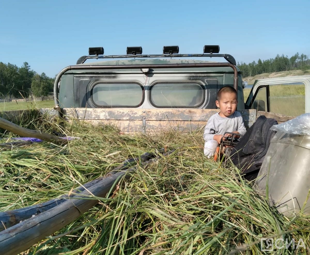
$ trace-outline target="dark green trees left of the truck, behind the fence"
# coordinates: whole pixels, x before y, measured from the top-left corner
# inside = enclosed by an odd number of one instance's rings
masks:
[[[47,96],[53,91],[54,80],[45,73],[36,73],[27,62],[21,67],[0,62],[1,98]]]

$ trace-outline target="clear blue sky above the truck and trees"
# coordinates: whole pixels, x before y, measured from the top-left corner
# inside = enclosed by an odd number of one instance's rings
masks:
[[[310,1],[0,1],[0,61],[54,77],[104,47],[107,55],[142,46],[161,54],[202,53],[219,45],[239,62],[296,52],[310,58]],[[218,61],[218,59],[216,60]]]

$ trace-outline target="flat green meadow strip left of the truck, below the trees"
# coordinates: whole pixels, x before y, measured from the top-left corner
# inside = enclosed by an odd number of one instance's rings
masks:
[[[53,107],[54,100],[49,101],[13,101],[0,103],[0,111],[12,111],[12,110],[28,110],[33,108],[50,108]]]

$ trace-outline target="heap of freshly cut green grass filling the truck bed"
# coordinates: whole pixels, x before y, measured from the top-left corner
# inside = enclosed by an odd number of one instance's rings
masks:
[[[140,165],[113,196],[101,198],[100,204],[23,255],[270,254],[261,251],[260,243],[269,237],[305,240],[305,248],[273,254],[310,253],[310,216],[280,215],[240,179],[238,169],[206,159],[203,130],[151,137],[120,134],[110,126],[61,126],[58,119],[29,123],[28,128],[80,139],[67,146],[42,142],[2,150],[2,212],[68,193],[146,151],[178,149]],[[6,133],[2,141],[11,136]]]

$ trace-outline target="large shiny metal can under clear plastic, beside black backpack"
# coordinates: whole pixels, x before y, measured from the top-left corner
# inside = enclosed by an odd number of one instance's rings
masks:
[[[310,136],[277,132],[254,189],[286,217],[310,214]]]

